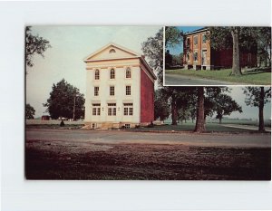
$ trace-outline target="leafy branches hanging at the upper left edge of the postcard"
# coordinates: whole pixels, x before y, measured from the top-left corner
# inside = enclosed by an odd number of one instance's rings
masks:
[[[49,41],[38,34],[31,34],[31,26],[25,27],[25,62],[28,67],[33,67],[33,57],[35,54],[44,57],[47,48],[51,48]]]

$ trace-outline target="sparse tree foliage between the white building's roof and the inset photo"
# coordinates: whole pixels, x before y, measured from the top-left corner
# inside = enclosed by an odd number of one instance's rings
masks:
[[[148,59],[151,68],[157,73],[158,82],[163,84],[163,28],[154,37],[141,43],[141,50]]]

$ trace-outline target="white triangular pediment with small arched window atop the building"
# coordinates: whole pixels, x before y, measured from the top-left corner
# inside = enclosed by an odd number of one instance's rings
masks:
[[[84,61],[113,60],[121,58],[141,57],[141,54],[135,53],[115,43],[109,43],[98,51],[88,55]]]

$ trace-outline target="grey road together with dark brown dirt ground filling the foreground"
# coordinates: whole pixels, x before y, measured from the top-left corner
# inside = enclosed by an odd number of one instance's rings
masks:
[[[28,179],[269,180],[270,171],[270,134],[26,130]]]

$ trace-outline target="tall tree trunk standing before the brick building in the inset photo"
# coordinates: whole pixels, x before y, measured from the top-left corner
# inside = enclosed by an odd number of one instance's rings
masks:
[[[232,35],[232,75],[240,76],[242,75],[240,67],[240,53],[239,53],[239,28],[233,27],[231,29]]]

